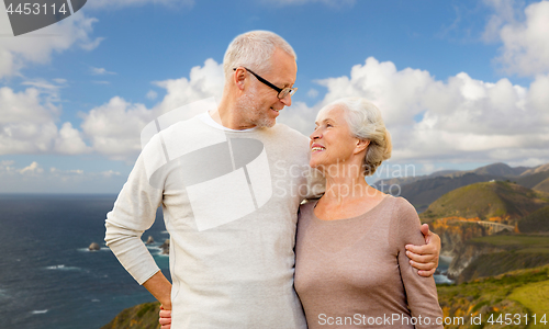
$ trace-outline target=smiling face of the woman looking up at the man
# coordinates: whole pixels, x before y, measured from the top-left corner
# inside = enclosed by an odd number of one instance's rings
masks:
[[[315,124],[316,128],[310,136],[312,168],[326,171],[330,166],[341,164],[356,156],[359,139],[351,136],[344,109],[335,106],[324,111]]]

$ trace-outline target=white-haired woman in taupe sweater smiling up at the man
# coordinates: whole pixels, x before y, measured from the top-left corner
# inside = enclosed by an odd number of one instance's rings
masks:
[[[380,111],[359,98],[323,107],[311,152],[326,192],[301,206],[298,224],[295,291],[309,328],[442,328],[435,281],[404,248],[425,243],[415,208],[365,180],[391,157]]]

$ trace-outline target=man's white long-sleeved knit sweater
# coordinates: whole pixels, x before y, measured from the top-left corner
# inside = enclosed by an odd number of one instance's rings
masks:
[[[148,141],[105,241],[143,284],[159,269],[141,237],[163,207],[171,328],[306,328],[293,290],[296,217],[324,189],[309,154],[309,138],[285,125],[228,132],[200,117]]]

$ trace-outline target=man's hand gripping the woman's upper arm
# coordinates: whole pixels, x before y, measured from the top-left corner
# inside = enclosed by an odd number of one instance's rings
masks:
[[[427,224],[422,225],[422,234],[425,236],[426,245],[406,245],[406,256],[410,258],[410,264],[419,270],[417,274],[430,276],[438,266],[440,237],[432,232]]]

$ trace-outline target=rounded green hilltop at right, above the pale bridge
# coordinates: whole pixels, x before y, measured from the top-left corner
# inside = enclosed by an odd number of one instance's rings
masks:
[[[481,220],[503,216],[519,219],[547,205],[549,195],[546,193],[493,181],[453,190],[430,204],[421,217],[424,223],[451,216],[479,217]]]

